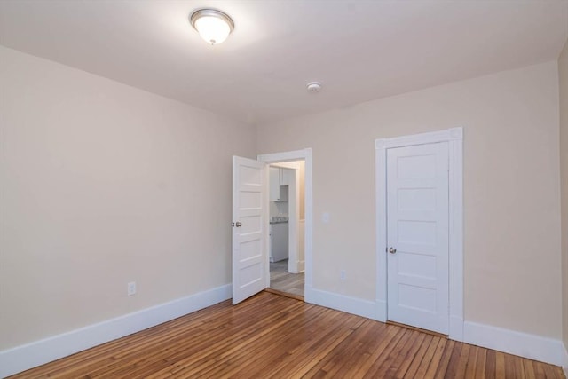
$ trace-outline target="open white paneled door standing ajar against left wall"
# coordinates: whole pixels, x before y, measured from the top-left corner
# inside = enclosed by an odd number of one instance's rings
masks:
[[[268,225],[264,162],[233,156],[233,304],[266,288]]]

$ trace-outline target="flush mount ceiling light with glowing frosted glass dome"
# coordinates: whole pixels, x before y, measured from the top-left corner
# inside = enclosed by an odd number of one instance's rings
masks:
[[[216,9],[199,9],[189,19],[193,28],[207,43],[222,43],[231,34],[234,23],[224,12]]]

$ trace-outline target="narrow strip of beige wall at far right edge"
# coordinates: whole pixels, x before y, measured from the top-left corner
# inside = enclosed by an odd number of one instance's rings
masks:
[[[568,351],[568,42],[558,59],[560,83],[560,178],[562,191],[563,336]],[[568,356],[565,365],[568,367]]]

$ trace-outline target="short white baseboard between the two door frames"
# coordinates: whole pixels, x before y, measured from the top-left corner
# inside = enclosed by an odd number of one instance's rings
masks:
[[[374,301],[339,295],[315,288],[310,288],[309,295],[310,296],[304,297],[306,303],[321,305],[337,311],[378,320],[377,305]]]

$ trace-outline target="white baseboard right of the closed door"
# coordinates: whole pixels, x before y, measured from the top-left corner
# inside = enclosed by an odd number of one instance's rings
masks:
[[[556,366],[564,364],[564,344],[560,340],[543,336],[465,321],[463,342],[540,360]]]

